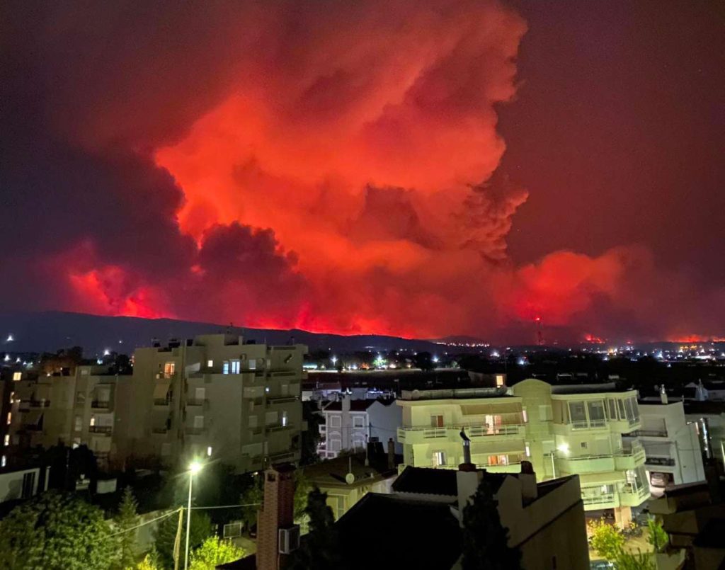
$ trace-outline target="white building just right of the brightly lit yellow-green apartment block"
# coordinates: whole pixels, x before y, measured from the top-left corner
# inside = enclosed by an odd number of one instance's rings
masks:
[[[705,480],[703,453],[697,423],[687,421],[681,401],[639,402],[642,429],[637,431],[645,448],[645,469],[653,494],[668,485]]]

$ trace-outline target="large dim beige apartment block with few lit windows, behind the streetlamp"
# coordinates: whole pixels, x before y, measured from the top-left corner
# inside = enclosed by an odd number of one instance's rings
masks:
[[[136,350],[133,400],[116,420],[118,455],[167,464],[210,457],[239,472],[297,462],[306,352],[228,334]]]

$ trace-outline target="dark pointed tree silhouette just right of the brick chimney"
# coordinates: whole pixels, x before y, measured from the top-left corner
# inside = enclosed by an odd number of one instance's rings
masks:
[[[335,517],[327,505],[327,493],[317,487],[307,497],[305,514],[310,532],[292,555],[293,570],[339,570],[341,563]]]

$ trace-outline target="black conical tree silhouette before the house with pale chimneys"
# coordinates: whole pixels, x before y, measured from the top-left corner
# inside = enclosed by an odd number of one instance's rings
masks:
[[[491,486],[484,480],[463,508],[463,570],[519,570],[521,552],[508,546]]]

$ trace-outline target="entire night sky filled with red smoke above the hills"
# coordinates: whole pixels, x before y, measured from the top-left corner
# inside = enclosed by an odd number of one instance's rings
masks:
[[[725,3],[0,20],[1,311],[725,336]]]

